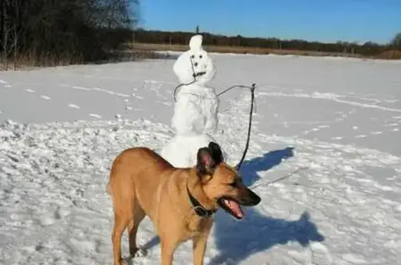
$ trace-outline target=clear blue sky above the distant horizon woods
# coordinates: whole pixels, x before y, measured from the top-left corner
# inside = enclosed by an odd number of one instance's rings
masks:
[[[401,0],[141,0],[140,13],[162,31],[379,43],[401,31]]]

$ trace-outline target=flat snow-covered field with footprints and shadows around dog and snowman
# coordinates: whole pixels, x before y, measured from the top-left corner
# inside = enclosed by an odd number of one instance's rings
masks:
[[[401,63],[210,56],[217,91],[258,86],[242,172],[262,202],[242,221],[217,213],[205,264],[399,264]],[[112,264],[109,167],[127,147],[173,136],[173,63],[0,72],[0,264]],[[221,98],[215,137],[232,163],[249,99]],[[159,264],[148,219],[139,244],[149,254],[132,264]],[[184,243],[175,264],[191,261]]]

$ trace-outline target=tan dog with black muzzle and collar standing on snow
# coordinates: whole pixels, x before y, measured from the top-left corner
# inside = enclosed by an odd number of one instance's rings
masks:
[[[194,264],[202,265],[213,214],[222,208],[237,219],[239,206],[254,206],[258,195],[242,184],[235,168],[223,162],[217,143],[198,150],[193,168],[174,168],[146,147],[123,151],[113,161],[107,192],[113,199],[114,265],[124,264],[121,236],[129,234],[129,253],[136,255],[136,231],[145,216],[160,238],[162,264],[171,265],[180,243],[192,239]]]

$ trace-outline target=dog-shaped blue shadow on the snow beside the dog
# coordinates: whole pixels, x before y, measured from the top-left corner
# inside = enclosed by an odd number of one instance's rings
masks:
[[[208,264],[239,264],[244,259],[290,241],[306,247],[311,241],[324,241],[310,221],[307,211],[298,220],[263,216],[253,208],[244,209],[244,220],[238,222],[219,212],[214,223],[214,242],[219,253]]]

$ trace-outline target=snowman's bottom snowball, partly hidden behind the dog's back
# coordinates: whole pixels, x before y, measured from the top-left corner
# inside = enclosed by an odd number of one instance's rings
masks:
[[[190,168],[196,165],[196,154],[199,148],[207,147],[210,142],[216,141],[208,134],[174,136],[162,148],[160,155],[175,168]]]

